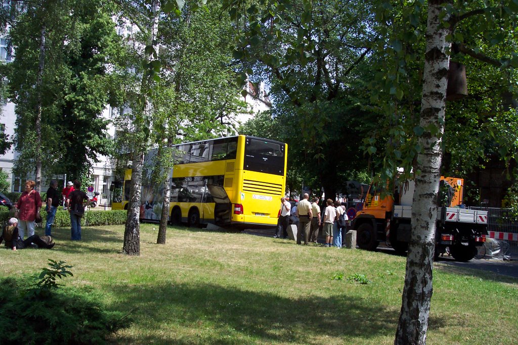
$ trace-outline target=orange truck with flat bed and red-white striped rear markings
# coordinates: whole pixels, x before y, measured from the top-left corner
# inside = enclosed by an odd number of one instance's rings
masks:
[[[435,257],[447,248],[457,261],[469,261],[477,254],[487,235],[487,211],[462,208],[464,179],[441,176],[440,205],[437,214]],[[407,181],[395,189],[394,196],[371,185],[363,209],[352,222],[357,245],[374,250],[380,241],[397,252],[406,252],[410,241],[410,220],[414,182]],[[396,200],[394,200],[396,199]]]

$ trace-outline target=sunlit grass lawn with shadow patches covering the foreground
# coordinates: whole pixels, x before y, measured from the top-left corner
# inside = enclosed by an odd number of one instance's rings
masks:
[[[103,291],[109,309],[134,310],[134,323],[114,343],[394,341],[405,258],[173,227],[167,244],[156,245],[157,229],[142,224],[140,257],[120,253],[123,226],[85,227],[81,242],[69,241],[69,229],[53,229],[52,250],[2,248],[0,276],[66,260],[74,277],[64,283]],[[371,282],[348,280],[353,274]],[[518,279],[435,265],[427,344],[516,344],[517,334]]]

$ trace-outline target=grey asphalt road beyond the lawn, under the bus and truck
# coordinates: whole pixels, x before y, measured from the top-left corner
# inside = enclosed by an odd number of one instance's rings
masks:
[[[275,233],[275,228],[268,229],[246,229],[243,230],[243,233],[256,235],[256,236],[265,236],[272,237]],[[319,238],[319,242],[322,242],[322,238]],[[389,255],[397,255],[396,252],[389,247],[384,246],[384,244],[380,244],[378,247],[378,251],[387,253]],[[497,274],[502,274],[506,276],[511,276],[514,278],[518,278],[518,260],[513,261],[502,261],[502,260],[487,260],[487,259],[472,259],[469,262],[456,262],[452,258],[444,257],[440,258],[439,263],[452,265],[461,268],[470,268],[470,269],[481,269],[482,271],[493,272]]]

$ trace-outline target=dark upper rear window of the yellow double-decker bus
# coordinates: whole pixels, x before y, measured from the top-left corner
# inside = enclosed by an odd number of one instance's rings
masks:
[[[244,146],[244,170],[284,174],[284,144],[247,137]]]

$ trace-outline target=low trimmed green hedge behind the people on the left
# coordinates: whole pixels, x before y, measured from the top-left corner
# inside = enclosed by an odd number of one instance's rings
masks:
[[[42,226],[45,226],[45,221],[47,219],[47,212],[45,209],[41,209],[40,211],[41,219],[43,219]],[[82,220],[83,226],[99,226],[99,225],[120,225],[126,223],[126,214],[127,211],[125,209],[116,210],[116,211],[92,211],[88,210],[84,213],[84,218]],[[9,218],[12,217],[12,213],[9,211],[0,211],[0,224],[3,226],[7,225],[9,222]],[[63,211],[63,209],[57,209],[56,217],[54,218],[54,222],[52,223],[56,228],[69,228],[70,227],[70,215],[68,211]]]

